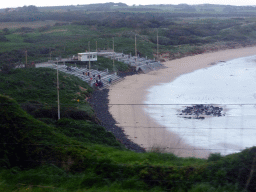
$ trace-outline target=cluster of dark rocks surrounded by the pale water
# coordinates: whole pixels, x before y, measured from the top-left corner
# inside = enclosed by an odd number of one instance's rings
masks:
[[[206,116],[220,117],[222,114],[222,107],[214,107],[213,105],[193,105],[192,107],[186,106],[178,115],[188,119],[204,119]]]

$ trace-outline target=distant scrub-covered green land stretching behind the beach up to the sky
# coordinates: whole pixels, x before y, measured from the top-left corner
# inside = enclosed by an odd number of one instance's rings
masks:
[[[4,26],[0,31],[0,66],[25,63],[26,50],[29,62],[42,62],[88,51],[88,42],[91,51],[96,50],[96,44],[97,50],[112,49],[113,37],[115,51],[134,55],[135,35],[138,54],[152,59],[156,57],[157,31],[159,59],[256,43],[256,10],[250,6],[128,7],[107,3],[46,9],[24,7],[0,13]]]

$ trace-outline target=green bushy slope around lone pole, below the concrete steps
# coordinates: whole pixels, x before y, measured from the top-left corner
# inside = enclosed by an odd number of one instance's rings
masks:
[[[57,119],[56,86],[56,70],[52,69],[16,69],[0,76],[0,92],[17,100],[36,118]],[[86,101],[92,92],[87,83],[60,73],[59,87],[62,117],[97,121]]]

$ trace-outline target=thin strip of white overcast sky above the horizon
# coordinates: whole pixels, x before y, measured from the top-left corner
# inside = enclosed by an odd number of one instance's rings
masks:
[[[35,1],[35,0],[23,0],[23,1],[17,1],[17,0],[1,0],[0,8],[8,8],[8,7],[23,7],[24,5],[35,5],[35,6],[57,6],[57,5],[84,5],[84,4],[93,4],[93,3],[106,3],[106,2],[122,2],[126,3],[127,5],[148,5],[148,4],[154,4],[154,1],[146,1],[146,0],[93,0],[89,3],[89,1],[85,0],[43,0],[43,1]],[[221,5],[256,5],[255,0],[158,0],[155,1],[156,4],[180,4],[180,3],[186,3],[189,5],[192,4],[221,4]]]

